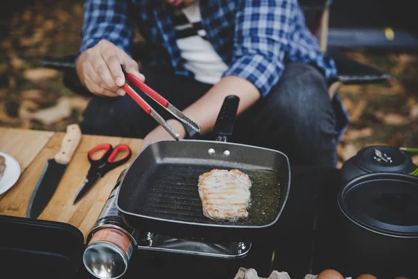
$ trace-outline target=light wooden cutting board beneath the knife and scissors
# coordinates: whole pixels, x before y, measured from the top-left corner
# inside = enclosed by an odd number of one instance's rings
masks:
[[[3,132],[3,129],[0,132]],[[42,142],[42,140],[45,140],[45,137],[49,136],[49,134],[45,134],[47,132],[33,133],[31,130],[17,130],[12,133],[19,137],[21,150],[15,151],[15,149],[8,147],[9,152],[4,152],[9,153],[11,156],[20,156],[21,158],[26,158],[25,153],[29,153],[27,157],[31,156],[31,151],[25,150],[30,149],[33,146],[33,142]],[[0,200],[0,214],[26,217],[27,206],[36,181],[38,181],[47,160],[54,158],[54,155],[59,151],[64,135],[65,133],[52,133],[52,136],[38,152],[29,167],[22,172],[19,181],[3,195],[3,198]],[[8,143],[2,139],[3,137],[0,136],[1,151],[4,150],[3,146],[8,146]],[[95,224],[100,211],[102,211],[119,174],[121,174],[123,169],[127,167],[127,164],[132,162],[139,151],[141,151],[141,142],[142,140],[139,139],[83,135],[58,188],[56,188],[54,196],[49,201],[45,210],[40,214],[39,219],[70,223],[79,228],[86,238],[88,232],[90,232],[90,229]],[[87,160],[87,153],[94,146],[102,143],[109,143],[114,146],[121,143],[127,144],[132,149],[132,158],[128,163],[108,172],[82,200],[73,206],[72,200],[78,188],[82,186],[88,168],[90,167],[90,163]],[[19,160],[20,163],[21,160]]]

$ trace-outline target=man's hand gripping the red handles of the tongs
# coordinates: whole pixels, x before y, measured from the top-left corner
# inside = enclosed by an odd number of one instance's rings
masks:
[[[138,63],[108,40],[100,40],[80,54],[76,61],[77,75],[82,84],[98,96],[123,96],[125,91],[121,86],[125,84],[125,75],[121,64],[128,73],[145,80],[139,73]]]

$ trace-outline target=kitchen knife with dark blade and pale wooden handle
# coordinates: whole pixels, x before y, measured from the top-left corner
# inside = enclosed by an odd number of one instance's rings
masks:
[[[61,181],[61,177],[68,163],[70,163],[72,154],[77,149],[81,138],[82,131],[77,124],[67,126],[67,133],[61,143],[61,150],[59,153],[56,153],[54,159],[47,160],[42,174],[40,174],[38,182],[33,189],[26,217],[36,219],[45,209],[49,199],[54,195],[55,189],[58,187],[59,181]]]

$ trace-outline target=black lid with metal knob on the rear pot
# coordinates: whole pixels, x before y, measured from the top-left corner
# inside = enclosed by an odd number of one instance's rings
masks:
[[[410,172],[410,156],[394,146],[368,146],[357,153],[357,163],[369,172]]]

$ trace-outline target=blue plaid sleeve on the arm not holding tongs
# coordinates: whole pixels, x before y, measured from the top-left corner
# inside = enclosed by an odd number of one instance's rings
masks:
[[[268,95],[284,70],[297,0],[242,0],[235,19],[233,61],[226,75],[248,80]]]

